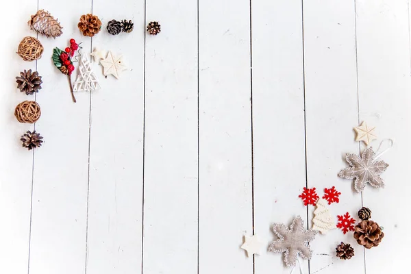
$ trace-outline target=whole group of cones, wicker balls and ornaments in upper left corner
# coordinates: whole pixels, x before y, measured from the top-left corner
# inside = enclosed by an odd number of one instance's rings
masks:
[[[38,10],[36,14],[32,15],[28,21],[30,29],[37,34],[46,36],[47,38],[57,38],[62,35],[62,25],[58,19],[54,18],[49,12],[45,10]],[[101,20],[94,14],[84,14],[80,17],[77,27],[79,31],[86,37],[93,37],[101,31]],[[109,34],[118,35],[120,33],[129,34],[134,29],[134,23],[131,20],[109,21],[106,27]],[[157,21],[151,21],[147,25],[147,32],[151,35],[157,35],[161,32],[161,26]],[[81,44],[81,43],[80,43]],[[74,92],[76,91],[92,91],[101,88],[99,81],[92,71],[90,61],[79,54],[82,49],[74,39],[70,40],[69,47],[64,50],[55,47],[51,59],[55,67],[69,78],[71,97],[73,102],[76,102]],[[27,36],[21,40],[18,45],[18,55],[25,61],[34,61],[41,58],[44,48],[37,38]],[[77,55],[76,55],[77,51]],[[123,55],[116,55],[109,51],[95,50],[91,53],[101,66],[103,66],[103,74],[105,77],[113,75],[117,79],[121,71],[125,71],[127,66],[123,62]],[[74,62],[79,62],[79,74],[75,82],[71,84],[71,74],[75,71]],[[42,77],[37,71],[24,70],[16,77],[17,88],[26,95],[34,95],[41,89]],[[36,123],[40,119],[41,110],[40,105],[36,101],[23,101],[19,103],[15,110],[14,116],[20,123]],[[23,147],[27,149],[35,149],[42,145],[42,136],[36,131],[27,131],[21,136]]]

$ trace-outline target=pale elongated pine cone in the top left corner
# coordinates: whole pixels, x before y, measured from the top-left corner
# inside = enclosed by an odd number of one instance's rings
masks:
[[[47,37],[56,38],[62,35],[62,26],[49,12],[39,10],[32,15],[32,19],[28,22],[30,29],[34,29],[38,34],[43,34]]]

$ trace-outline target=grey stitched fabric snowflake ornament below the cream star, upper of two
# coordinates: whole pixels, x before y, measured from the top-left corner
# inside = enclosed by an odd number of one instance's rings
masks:
[[[375,188],[384,188],[384,180],[379,177],[379,173],[383,173],[388,164],[384,161],[375,162],[374,158],[373,147],[364,149],[361,157],[353,153],[347,153],[345,160],[351,167],[343,169],[338,175],[346,179],[356,178],[354,188],[357,192],[364,190],[366,183]]]

